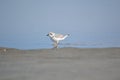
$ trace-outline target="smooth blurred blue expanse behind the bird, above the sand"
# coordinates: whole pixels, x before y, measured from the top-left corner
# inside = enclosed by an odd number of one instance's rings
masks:
[[[120,0],[0,0],[0,47],[51,48],[46,36],[51,31],[70,34],[63,44],[120,47],[119,4]]]

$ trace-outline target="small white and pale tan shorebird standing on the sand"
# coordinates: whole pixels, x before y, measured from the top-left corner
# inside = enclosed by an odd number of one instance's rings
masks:
[[[67,35],[62,35],[62,34],[56,34],[54,32],[49,32],[47,34],[47,36],[50,37],[50,39],[54,42],[54,48],[58,48],[58,44],[59,41],[64,40],[65,38],[67,38],[69,36],[69,34]]]

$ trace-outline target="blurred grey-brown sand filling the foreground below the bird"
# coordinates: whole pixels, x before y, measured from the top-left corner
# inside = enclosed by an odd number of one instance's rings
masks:
[[[120,80],[120,48],[1,48],[0,80]]]

